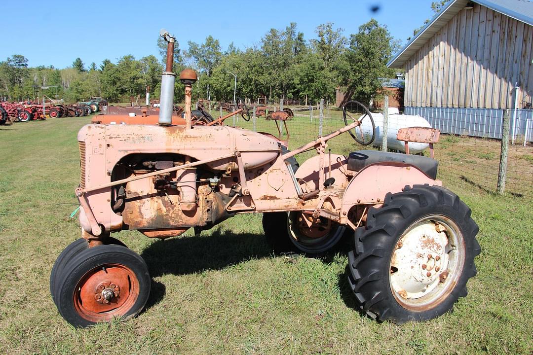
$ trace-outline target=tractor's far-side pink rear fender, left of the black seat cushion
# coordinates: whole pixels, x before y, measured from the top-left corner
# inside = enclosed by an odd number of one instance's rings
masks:
[[[348,170],[348,158],[344,155],[331,154],[331,174],[329,174],[329,154],[324,154],[324,170],[326,178],[332,177],[335,179],[333,184],[336,188],[346,188],[348,186],[349,178],[344,174]],[[304,181],[302,188],[307,192],[319,189],[320,178],[320,155],[315,155],[312,158],[304,161],[303,164],[296,171],[296,178]]]

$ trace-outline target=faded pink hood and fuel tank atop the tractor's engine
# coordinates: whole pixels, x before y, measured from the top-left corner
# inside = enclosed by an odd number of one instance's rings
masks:
[[[78,133],[87,155],[102,154],[107,170],[128,154],[177,153],[196,160],[213,159],[241,153],[245,169],[260,167],[279,154],[276,139],[253,131],[227,126],[162,127],[157,125],[86,125]],[[207,165],[226,170],[233,159],[221,159]]]

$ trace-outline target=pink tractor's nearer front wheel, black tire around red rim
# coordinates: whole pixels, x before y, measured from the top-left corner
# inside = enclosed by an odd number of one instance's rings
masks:
[[[79,251],[64,267],[56,289],[61,316],[75,327],[139,314],[150,294],[144,260],[122,245]]]

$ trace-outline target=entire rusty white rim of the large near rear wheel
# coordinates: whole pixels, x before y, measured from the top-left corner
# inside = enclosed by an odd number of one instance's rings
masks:
[[[399,238],[390,263],[390,286],[402,307],[427,310],[444,301],[464,266],[464,241],[445,216],[415,222]]]

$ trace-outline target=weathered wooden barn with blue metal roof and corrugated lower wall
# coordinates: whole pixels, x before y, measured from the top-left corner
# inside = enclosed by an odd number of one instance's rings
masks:
[[[451,0],[387,64],[403,68],[405,112],[443,133],[533,141],[533,2]]]

